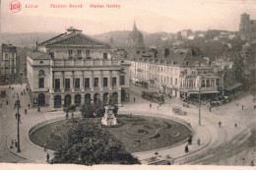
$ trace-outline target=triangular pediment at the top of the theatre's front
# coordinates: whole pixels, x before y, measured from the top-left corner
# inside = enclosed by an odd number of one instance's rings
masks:
[[[107,44],[83,33],[75,33],[70,36],[66,36],[51,43],[51,45],[108,46]]]

